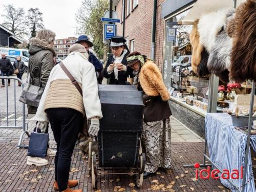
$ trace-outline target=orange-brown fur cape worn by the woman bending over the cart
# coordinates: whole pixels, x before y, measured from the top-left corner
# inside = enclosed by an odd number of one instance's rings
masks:
[[[164,85],[162,74],[153,61],[147,60],[141,67],[139,81],[147,96],[160,95],[163,101],[170,98],[169,92]]]

